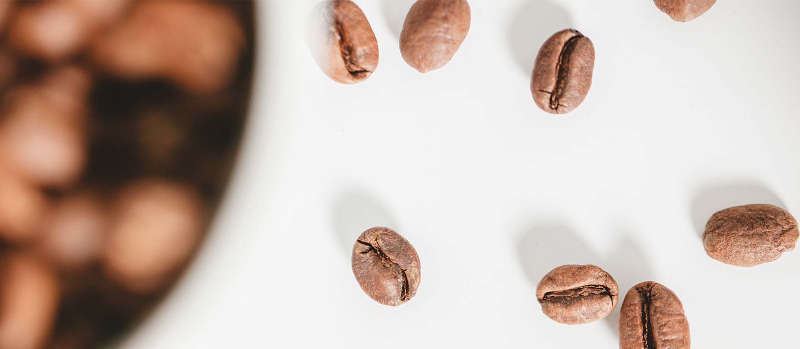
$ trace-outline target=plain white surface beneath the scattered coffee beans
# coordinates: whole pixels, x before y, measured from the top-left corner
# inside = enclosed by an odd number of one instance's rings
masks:
[[[226,204],[123,347],[617,347],[619,306],[575,327],[542,315],[536,284],[560,264],[597,264],[622,294],[665,284],[695,348],[797,347],[800,251],[735,268],[699,234],[734,204],[800,215],[800,2],[720,0],[678,23],[650,0],[473,0],[461,50],[425,75],[398,50],[412,2],[358,2],[381,50],[359,85],[314,65],[302,23],[315,1],[259,3],[256,97]],[[594,42],[594,84],[551,116],[530,69],[566,27]],[[374,225],[422,260],[401,307],[374,303],[350,271]]]

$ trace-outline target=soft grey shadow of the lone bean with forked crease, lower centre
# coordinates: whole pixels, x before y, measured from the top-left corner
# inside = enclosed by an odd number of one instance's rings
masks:
[[[362,191],[352,190],[339,194],[330,214],[336,240],[347,256],[350,256],[358,235],[366,229],[397,227],[390,212],[373,196]]]

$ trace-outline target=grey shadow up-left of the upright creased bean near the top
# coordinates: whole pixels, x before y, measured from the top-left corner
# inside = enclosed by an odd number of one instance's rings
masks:
[[[550,35],[558,30],[571,28],[570,14],[548,0],[533,0],[522,4],[508,27],[508,45],[522,73],[530,75],[534,61]]]

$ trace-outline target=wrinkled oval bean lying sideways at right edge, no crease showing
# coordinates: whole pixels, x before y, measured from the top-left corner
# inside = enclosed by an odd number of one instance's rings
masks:
[[[714,213],[702,234],[706,253],[714,260],[752,267],[778,260],[797,243],[798,221],[783,208],[748,204]]]

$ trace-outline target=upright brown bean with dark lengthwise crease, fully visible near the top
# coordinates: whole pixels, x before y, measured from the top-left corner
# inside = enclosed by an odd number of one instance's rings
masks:
[[[539,49],[530,80],[536,105],[547,113],[578,108],[592,87],[594,45],[574,29],[553,34]]]

